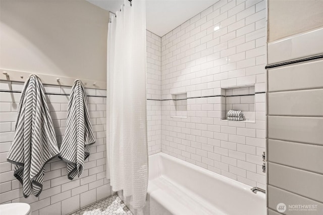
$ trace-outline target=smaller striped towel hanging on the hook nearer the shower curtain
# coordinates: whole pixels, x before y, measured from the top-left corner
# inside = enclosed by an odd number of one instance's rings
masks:
[[[82,82],[76,80],[69,99],[66,131],[60,150],[60,158],[67,163],[70,180],[76,174],[79,177],[82,174],[84,160],[90,155],[89,145],[94,142],[86,92]]]

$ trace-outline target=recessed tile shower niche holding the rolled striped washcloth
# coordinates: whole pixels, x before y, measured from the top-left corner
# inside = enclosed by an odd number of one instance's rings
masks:
[[[241,110],[243,121],[255,122],[254,85],[222,89],[222,120],[227,120],[229,110]]]

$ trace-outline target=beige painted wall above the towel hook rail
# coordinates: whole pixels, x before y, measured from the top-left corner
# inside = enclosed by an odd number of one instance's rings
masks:
[[[106,80],[109,12],[79,1],[0,1],[0,67]]]

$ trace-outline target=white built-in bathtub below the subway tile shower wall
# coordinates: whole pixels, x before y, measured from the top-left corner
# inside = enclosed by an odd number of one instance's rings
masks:
[[[265,195],[164,153],[149,156],[144,214],[265,215]]]

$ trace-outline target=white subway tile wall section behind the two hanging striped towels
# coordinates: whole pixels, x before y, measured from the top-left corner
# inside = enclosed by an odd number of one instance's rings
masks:
[[[83,174],[71,181],[67,178],[66,163],[53,159],[45,165],[43,190],[39,197],[23,197],[20,182],[13,175],[14,165],[7,162],[22,86],[23,83],[0,81],[0,203],[27,202],[33,215],[68,214],[109,196],[110,181],[105,178],[106,91],[87,89],[96,142],[90,147]],[[70,87],[45,85],[45,92],[60,146],[66,127]]]

